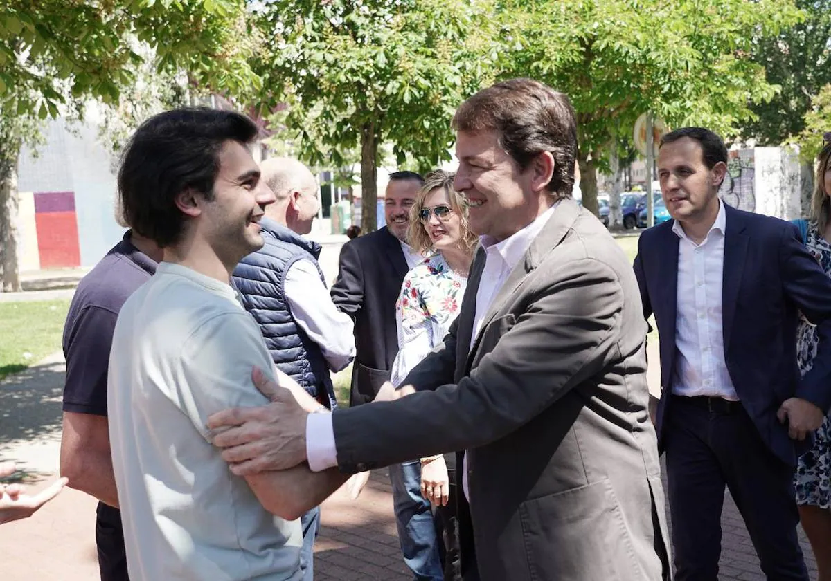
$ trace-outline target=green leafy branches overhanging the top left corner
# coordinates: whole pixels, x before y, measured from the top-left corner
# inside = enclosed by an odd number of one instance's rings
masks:
[[[228,95],[259,88],[248,66],[243,0],[27,2],[0,6],[0,265],[19,290],[14,228],[17,159],[37,143],[38,119],[81,110],[90,98],[117,105],[148,59],[184,71],[197,87]],[[140,55],[142,48],[149,57]]]

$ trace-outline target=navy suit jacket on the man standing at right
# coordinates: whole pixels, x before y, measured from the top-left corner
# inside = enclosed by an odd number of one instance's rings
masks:
[[[722,291],[725,360],[742,405],[774,454],[793,465],[805,443],[788,437],[776,412],[788,398],[831,406],[831,279],[809,254],[798,229],[779,218],[725,204]],[[673,220],[643,232],[635,273],[643,314],[655,313],[661,347],[661,388],[670,392],[676,361],[678,242]],[[814,368],[799,379],[798,310],[819,330]],[[663,444],[671,398],[661,397],[656,425]]]

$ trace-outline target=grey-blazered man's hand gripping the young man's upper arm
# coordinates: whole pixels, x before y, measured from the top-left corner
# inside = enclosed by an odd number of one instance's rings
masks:
[[[280,388],[261,369],[254,368],[252,378],[262,393],[271,394],[272,403],[226,409],[208,418],[214,446],[225,448],[223,460],[237,476],[287,470],[306,461],[308,413],[291,391]]]

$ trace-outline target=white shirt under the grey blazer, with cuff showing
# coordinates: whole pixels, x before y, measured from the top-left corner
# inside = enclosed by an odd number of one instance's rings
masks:
[[[504,285],[510,271],[519,264],[525,252],[534,242],[539,232],[548,222],[548,218],[554,212],[557,204],[549,207],[540,214],[534,222],[524,227],[513,236],[505,238],[502,242],[496,242],[494,238],[479,237],[479,242],[485,249],[484,270],[479,281],[479,289],[476,291],[476,312],[474,315],[474,331],[472,339],[479,333],[479,326],[482,325],[485,313],[488,312],[499,289]],[[405,252],[406,254],[406,252]],[[471,348],[475,340],[471,340]],[[309,468],[318,472],[337,466],[337,447],[335,446],[335,431],[332,427],[331,413],[310,413],[306,420],[306,456]],[[462,488],[465,496],[468,496],[467,485],[467,454],[462,464]]]

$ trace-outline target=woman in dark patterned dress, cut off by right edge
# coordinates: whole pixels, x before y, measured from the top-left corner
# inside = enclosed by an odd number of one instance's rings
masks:
[[[811,199],[809,220],[795,221],[805,246],[831,276],[831,132],[825,134]],[[819,337],[807,320],[796,334],[797,364],[804,374],[813,365]],[[799,458],[794,477],[799,520],[817,559],[819,581],[831,581],[831,416],[814,432],[814,446]]]

